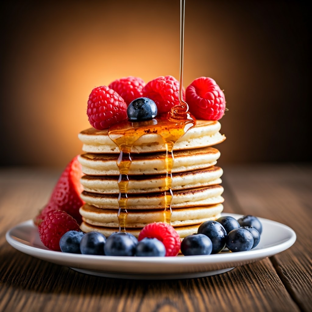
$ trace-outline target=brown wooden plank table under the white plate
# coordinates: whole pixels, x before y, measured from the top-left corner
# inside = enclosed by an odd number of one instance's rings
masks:
[[[223,167],[224,212],[293,228],[293,246],[222,275],[120,280],[85,275],[23,254],[5,233],[31,219],[60,171],[0,171],[0,311],[311,311],[312,166]]]

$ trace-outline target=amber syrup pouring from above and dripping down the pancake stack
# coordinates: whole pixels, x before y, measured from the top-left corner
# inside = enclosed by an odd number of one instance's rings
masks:
[[[183,100],[183,41],[184,41],[184,9],[185,0],[181,0],[181,32],[180,32],[180,88],[179,88],[179,105],[171,108],[168,115],[160,115],[156,119],[150,119],[139,122],[125,120],[111,126],[108,135],[120,149],[117,160],[119,168],[119,210],[118,221],[119,231],[126,231],[127,225],[127,188],[129,182],[129,168],[131,165],[131,149],[135,142],[146,133],[155,133],[163,138],[166,147],[166,190],[164,192],[164,222],[170,224],[172,209],[171,200],[173,192],[171,190],[172,168],[173,168],[173,146],[174,143],[182,137],[188,129],[196,124],[195,118],[188,112],[188,104]]]

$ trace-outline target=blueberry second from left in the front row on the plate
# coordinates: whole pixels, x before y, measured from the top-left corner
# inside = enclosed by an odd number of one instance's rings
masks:
[[[84,255],[104,255],[106,237],[100,232],[88,232],[80,241],[80,251]]]

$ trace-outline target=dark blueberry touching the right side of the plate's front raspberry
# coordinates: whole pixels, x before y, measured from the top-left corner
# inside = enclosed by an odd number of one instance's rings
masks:
[[[192,234],[183,238],[181,252],[184,256],[210,255],[211,239],[204,234]]]

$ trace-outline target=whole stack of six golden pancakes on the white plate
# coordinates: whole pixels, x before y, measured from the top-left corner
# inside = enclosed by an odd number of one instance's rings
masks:
[[[218,121],[197,120],[173,147],[171,225],[180,237],[197,232],[199,225],[216,220],[223,210],[222,168],[217,167],[220,152],[212,147],[225,140]],[[79,156],[84,191],[80,208],[84,232],[109,236],[119,231],[118,196],[119,148],[108,130],[90,128],[78,135],[85,154]],[[164,221],[166,190],[166,148],[155,133],[144,134],[131,150],[126,231],[139,236],[148,223]]]

